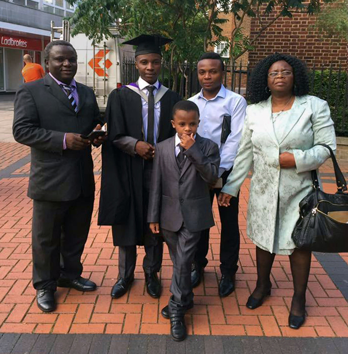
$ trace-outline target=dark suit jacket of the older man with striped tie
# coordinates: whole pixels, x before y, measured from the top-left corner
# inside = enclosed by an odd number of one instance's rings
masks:
[[[24,84],[17,91],[13,135],[31,147],[28,196],[69,201],[94,193],[91,148],[63,150],[65,133],[87,135],[100,123],[93,90],[77,83],[78,111],[49,76]]]

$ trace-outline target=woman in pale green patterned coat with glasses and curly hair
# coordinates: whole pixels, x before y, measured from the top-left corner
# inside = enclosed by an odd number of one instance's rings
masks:
[[[319,143],[336,149],[326,101],[308,95],[306,67],[296,57],[274,53],[254,69],[247,114],[233,171],[218,198],[229,205],[252,164],[247,234],[256,245],[257,284],[247,307],[256,309],[270,294],[270,271],[276,254],[288,255],[294,296],[288,323],[305,321],[311,252],[296,249],[291,238],[299,203],[312,190],[311,171],[329,157]]]

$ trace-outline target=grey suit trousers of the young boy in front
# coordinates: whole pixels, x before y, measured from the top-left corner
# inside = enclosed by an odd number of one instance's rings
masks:
[[[168,245],[170,259],[173,262],[169,300],[169,313],[185,314],[193,302],[191,287],[191,264],[193,262],[201,231],[190,232],[183,224],[179,231],[162,229],[163,238]]]

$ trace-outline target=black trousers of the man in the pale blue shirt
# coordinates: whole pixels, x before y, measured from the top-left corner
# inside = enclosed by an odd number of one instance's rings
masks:
[[[227,177],[232,168],[222,173],[222,185],[225,185]],[[211,204],[214,196],[218,196],[220,188],[210,191]],[[220,241],[220,270],[221,274],[233,275],[238,269],[238,257],[240,248],[240,232],[238,225],[239,194],[237,198],[231,198],[228,207],[218,207],[221,221],[221,241]],[[209,250],[209,229],[202,231],[201,239],[197,245],[195,254],[195,264],[198,268],[204,268],[208,264],[207,254]]]

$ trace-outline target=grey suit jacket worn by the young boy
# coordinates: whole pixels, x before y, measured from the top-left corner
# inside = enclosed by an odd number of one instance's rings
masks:
[[[196,143],[184,154],[180,171],[175,136],[156,145],[147,221],[174,232],[184,222],[189,231],[197,232],[214,225],[209,185],[217,181],[219,148],[197,134]]]

